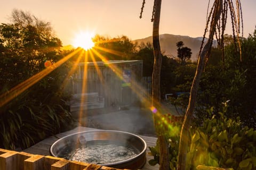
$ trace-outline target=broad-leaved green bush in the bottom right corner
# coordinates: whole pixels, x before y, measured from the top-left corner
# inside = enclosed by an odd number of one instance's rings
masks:
[[[234,169],[256,168],[256,130],[244,126],[239,117],[227,118],[224,113],[212,114],[201,127],[191,133],[188,165],[232,167]]]

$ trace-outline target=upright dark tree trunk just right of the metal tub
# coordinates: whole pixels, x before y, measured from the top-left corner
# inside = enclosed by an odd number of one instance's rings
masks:
[[[160,92],[160,78],[161,78],[161,66],[162,66],[162,54],[159,43],[159,21],[160,21],[160,13],[161,13],[161,2],[162,0],[155,0],[154,2],[154,21],[153,21],[153,47],[154,47],[154,69],[152,75],[152,105],[159,109],[161,105],[161,92]],[[169,149],[168,142],[164,136],[161,129],[157,126],[157,122],[159,120],[159,116],[154,114],[154,126],[157,133],[158,143],[159,143],[159,169],[168,170],[169,169]],[[163,130],[163,129],[162,129]]]

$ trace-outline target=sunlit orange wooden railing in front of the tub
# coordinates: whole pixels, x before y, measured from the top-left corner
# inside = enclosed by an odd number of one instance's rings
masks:
[[[0,148],[0,170],[120,170],[101,165]]]

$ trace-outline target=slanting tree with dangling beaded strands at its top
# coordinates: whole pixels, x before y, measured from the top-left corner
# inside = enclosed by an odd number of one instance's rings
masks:
[[[231,13],[233,34],[235,35],[235,30],[236,30],[237,37],[239,37],[238,26],[239,26],[239,19],[240,19],[239,14],[241,12],[241,2],[239,0],[236,0],[236,6],[237,6],[236,9],[237,9],[238,18],[236,18],[233,1],[231,1],[231,0],[215,0],[213,3],[213,7],[211,8],[209,18],[207,19],[205,33],[207,30],[208,23],[211,20],[209,39],[207,40],[202,51],[199,53],[198,62],[197,62],[197,71],[196,71],[196,74],[195,74],[195,77],[193,80],[193,84],[191,86],[189,104],[188,104],[188,108],[186,111],[185,119],[182,124],[180,146],[179,146],[179,156],[178,156],[178,169],[179,170],[186,169],[186,155],[187,155],[187,150],[188,150],[188,136],[189,136],[188,132],[189,132],[190,124],[191,124],[191,119],[193,118],[193,111],[194,111],[195,104],[196,104],[196,95],[197,95],[197,90],[199,87],[199,81],[201,79],[201,75],[204,70],[206,58],[209,57],[210,52],[211,52],[212,41],[213,41],[214,35],[215,34],[218,35],[218,33],[217,33],[218,31],[220,32],[219,33],[220,37],[217,37],[217,38],[219,38],[219,40],[220,40],[219,41],[221,44],[220,47],[223,48],[223,37],[224,37],[225,28],[226,28],[228,7],[229,7],[230,13]],[[205,34],[204,34],[204,37],[205,37]],[[204,41],[204,39],[203,39],[203,41]],[[202,44],[203,44],[203,41],[202,41]],[[238,45],[239,45],[239,39],[238,39]]]

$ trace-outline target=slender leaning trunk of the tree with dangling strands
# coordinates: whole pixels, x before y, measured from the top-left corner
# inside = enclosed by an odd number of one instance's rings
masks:
[[[191,125],[191,119],[193,117],[193,111],[195,108],[196,103],[196,96],[197,96],[197,90],[199,87],[199,81],[201,79],[201,75],[204,70],[205,65],[205,58],[206,56],[209,56],[212,48],[212,41],[215,33],[215,27],[218,23],[218,20],[220,19],[221,11],[222,11],[222,0],[215,0],[215,2],[218,3],[218,7],[215,8],[212,21],[211,21],[211,27],[209,32],[209,39],[207,40],[202,53],[199,55],[198,63],[197,63],[197,70],[196,74],[190,89],[190,97],[189,97],[189,104],[187,108],[187,112],[185,115],[185,119],[182,124],[181,128],[181,137],[180,137],[180,146],[179,146],[179,156],[178,156],[178,170],[185,170],[186,169],[186,156],[188,151],[188,137],[189,137],[189,127]]]

